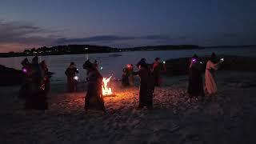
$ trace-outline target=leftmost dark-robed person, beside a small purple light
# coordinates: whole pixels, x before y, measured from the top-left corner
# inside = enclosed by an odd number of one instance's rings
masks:
[[[30,62],[27,58],[25,58],[22,62],[22,86],[19,90],[18,98],[26,98],[29,94],[29,84],[31,82],[30,74],[31,74],[31,66]]]

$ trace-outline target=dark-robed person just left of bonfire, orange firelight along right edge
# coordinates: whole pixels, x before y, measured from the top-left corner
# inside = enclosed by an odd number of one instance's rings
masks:
[[[102,96],[102,74],[96,69],[90,60],[83,64],[83,68],[87,70],[87,93],[85,98],[85,110],[102,110],[105,112],[105,106]]]

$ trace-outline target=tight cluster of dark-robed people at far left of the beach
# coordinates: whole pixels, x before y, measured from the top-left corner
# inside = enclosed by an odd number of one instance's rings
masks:
[[[25,109],[48,109],[47,97],[50,90],[50,77],[46,62],[38,62],[34,57],[31,62],[27,58],[22,61],[23,81],[19,90],[19,98],[25,98]]]

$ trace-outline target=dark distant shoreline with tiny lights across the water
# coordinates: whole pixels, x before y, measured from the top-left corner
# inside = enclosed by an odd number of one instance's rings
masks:
[[[86,48],[85,48],[86,47]],[[103,54],[103,53],[120,53],[130,51],[159,51],[159,50],[200,50],[204,49],[200,46],[194,45],[180,45],[180,46],[142,46],[134,48],[111,48],[106,46],[54,46],[51,48],[41,48],[37,50],[30,50],[29,52],[10,52],[0,53],[0,58],[11,58],[11,57],[29,57],[29,56],[46,56],[46,55],[69,55],[69,54]],[[28,50],[27,50],[28,51]]]

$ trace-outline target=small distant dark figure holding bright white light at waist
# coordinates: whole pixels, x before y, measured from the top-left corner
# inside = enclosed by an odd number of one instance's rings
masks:
[[[70,66],[65,71],[66,78],[67,78],[67,87],[70,93],[77,90],[78,85],[78,69],[75,67],[74,62],[70,62]]]

